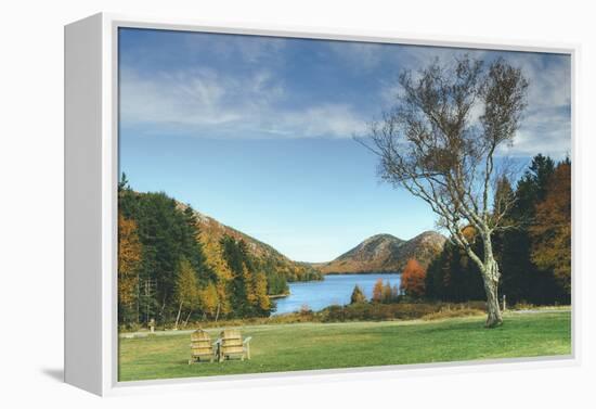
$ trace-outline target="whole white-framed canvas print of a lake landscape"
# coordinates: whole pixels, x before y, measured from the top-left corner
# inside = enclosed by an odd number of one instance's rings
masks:
[[[573,362],[575,53],[66,26],[66,382]]]

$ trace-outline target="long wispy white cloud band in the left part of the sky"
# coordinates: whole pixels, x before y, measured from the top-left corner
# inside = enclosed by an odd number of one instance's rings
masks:
[[[125,126],[186,126],[199,137],[349,138],[364,130],[364,119],[349,104],[283,107],[289,100],[283,81],[267,71],[232,77],[193,69],[145,78],[125,69],[120,119]]]

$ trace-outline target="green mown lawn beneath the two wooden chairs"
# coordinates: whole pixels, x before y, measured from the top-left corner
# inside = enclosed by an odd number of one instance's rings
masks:
[[[252,325],[251,360],[189,366],[190,335],[121,338],[119,380],[280,372],[380,365],[571,354],[570,311],[507,314],[485,330],[482,317]],[[208,330],[217,338],[219,330]]]

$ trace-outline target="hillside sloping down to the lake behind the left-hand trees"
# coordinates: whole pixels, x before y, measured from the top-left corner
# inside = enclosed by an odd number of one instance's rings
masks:
[[[180,209],[184,210],[187,206],[178,203]],[[213,267],[221,263],[220,240],[224,235],[230,235],[236,240],[243,240],[251,255],[260,259],[271,270],[284,276],[287,281],[307,281],[321,280],[321,272],[307,263],[294,261],[277,252],[271,245],[263,243],[242,231],[225,226],[212,217],[206,216],[194,210],[198,228],[199,240],[203,243],[207,261]]]

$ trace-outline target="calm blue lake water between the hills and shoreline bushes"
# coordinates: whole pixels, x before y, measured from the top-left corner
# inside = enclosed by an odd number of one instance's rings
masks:
[[[276,299],[277,309],[274,315],[294,312],[300,310],[302,305],[308,305],[313,311],[319,311],[329,305],[345,305],[350,303],[350,296],[354,285],[359,284],[366,298],[373,295],[375,281],[383,279],[389,281],[391,286],[400,286],[400,274],[337,274],[327,276],[323,281],[288,283],[289,296]]]

